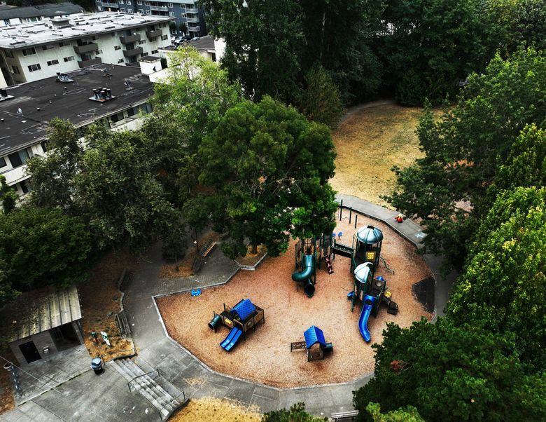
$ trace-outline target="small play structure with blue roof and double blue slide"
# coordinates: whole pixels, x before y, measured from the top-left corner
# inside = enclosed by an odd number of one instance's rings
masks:
[[[250,299],[241,299],[233,308],[225,306],[222,313],[214,312],[209,322],[209,328],[216,332],[221,325],[230,328],[228,336],[220,343],[221,348],[229,352],[235,347],[241,337],[246,340],[246,333],[256,325],[265,324],[265,314],[260,306],[255,306]]]

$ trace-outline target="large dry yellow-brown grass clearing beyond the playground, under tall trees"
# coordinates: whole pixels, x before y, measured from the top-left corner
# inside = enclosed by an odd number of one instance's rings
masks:
[[[423,156],[415,134],[422,109],[386,104],[362,109],[332,132],[337,158],[333,188],[388,207],[380,195],[393,189],[393,165]]]

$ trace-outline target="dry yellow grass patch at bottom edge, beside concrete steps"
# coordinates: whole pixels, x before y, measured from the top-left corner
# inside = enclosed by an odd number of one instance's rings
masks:
[[[204,397],[190,400],[186,407],[169,418],[169,422],[258,422],[258,409],[231,400]]]

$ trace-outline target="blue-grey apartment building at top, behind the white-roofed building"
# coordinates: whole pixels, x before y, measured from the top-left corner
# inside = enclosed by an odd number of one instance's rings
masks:
[[[174,18],[176,34],[183,32],[194,38],[207,35],[202,8],[195,0],[95,0],[98,11],[120,11],[122,13],[139,13],[148,16]],[[181,26],[182,25],[182,26]],[[184,26],[185,25],[185,26]],[[186,27],[186,29],[184,29]],[[181,31],[181,28],[184,29]]]

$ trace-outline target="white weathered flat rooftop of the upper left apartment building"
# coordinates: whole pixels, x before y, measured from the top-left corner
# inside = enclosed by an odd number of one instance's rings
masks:
[[[99,12],[70,15],[39,22],[0,27],[0,48],[18,50],[31,46],[109,34],[146,25],[169,22],[174,18],[132,13]]]

